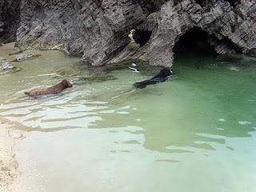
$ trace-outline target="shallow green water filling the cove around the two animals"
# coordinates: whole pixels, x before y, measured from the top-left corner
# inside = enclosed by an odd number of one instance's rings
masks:
[[[172,81],[134,90],[149,76],[123,69],[79,82],[88,71],[70,69],[78,58],[45,53],[0,76],[1,123],[27,131],[14,149],[16,191],[256,191],[251,58],[187,55]],[[58,96],[22,94],[69,77],[74,87]]]

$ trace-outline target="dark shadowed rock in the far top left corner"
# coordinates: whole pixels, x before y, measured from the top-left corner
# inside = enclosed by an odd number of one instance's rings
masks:
[[[2,42],[12,42],[16,39],[20,17],[19,3],[20,0],[0,0],[0,39]]]

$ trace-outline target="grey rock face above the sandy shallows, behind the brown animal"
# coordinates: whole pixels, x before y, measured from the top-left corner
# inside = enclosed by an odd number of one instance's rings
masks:
[[[22,0],[18,46],[82,53],[79,7],[71,1]]]

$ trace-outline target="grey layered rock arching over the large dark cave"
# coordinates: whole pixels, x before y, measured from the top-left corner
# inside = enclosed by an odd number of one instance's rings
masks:
[[[154,36],[147,47],[136,54],[126,51],[114,62],[132,57],[148,60],[151,65],[171,66],[175,43],[195,26],[209,34],[208,41],[218,54],[242,52],[252,55],[256,47],[255,10],[254,0],[241,1],[235,8],[224,1],[212,1],[204,7],[192,0],[183,0],[176,5],[167,2],[148,17]]]

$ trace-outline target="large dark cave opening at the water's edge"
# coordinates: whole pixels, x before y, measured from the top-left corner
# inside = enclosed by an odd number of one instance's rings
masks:
[[[215,55],[214,46],[208,42],[210,35],[198,27],[187,30],[185,34],[175,43],[174,58],[184,54],[210,54]]]

